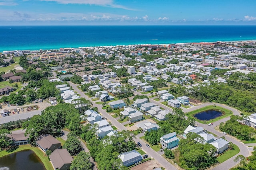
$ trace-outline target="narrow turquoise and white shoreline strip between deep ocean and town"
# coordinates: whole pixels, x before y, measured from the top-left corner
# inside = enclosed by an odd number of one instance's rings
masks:
[[[217,40],[220,41],[220,40]],[[67,45],[66,47],[54,47],[56,45],[52,45],[52,46],[41,46],[42,48],[37,48],[37,47],[32,47],[32,48],[27,48],[27,47],[21,47],[21,48],[16,48],[15,47],[13,49],[4,49],[4,50],[0,50],[2,53],[4,51],[15,51],[15,50],[30,50],[30,51],[39,51],[40,49],[42,50],[59,50],[60,48],[74,48],[74,49],[78,49],[79,47],[85,47],[85,48],[96,48],[96,47],[116,47],[116,46],[128,46],[128,45],[144,45],[144,44],[150,44],[150,45],[169,45],[169,44],[178,44],[178,43],[216,43],[217,41],[210,41],[210,40],[206,40],[206,41],[177,41],[177,42],[170,42],[170,43],[126,43],[126,44],[122,44],[122,45],[106,45],[106,44],[101,44],[101,45],[86,45],[86,46],[78,46],[78,45]],[[256,41],[256,39],[236,39],[236,40],[230,40],[230,41],[220,41],[220,42],[241,42],[241,41]]]

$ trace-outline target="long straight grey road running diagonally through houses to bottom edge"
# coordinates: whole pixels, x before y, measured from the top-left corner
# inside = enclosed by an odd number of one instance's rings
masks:
[[[72,88],[78,92],[78,94],[80,94],[80,96],[82,98],[86,98],[86,100],[90,100],[92,102],[92,100],[90,98],[88,98],[88,96],[86,96],[81,90],[79,90],[72,82],[69,82],[70,86],[72,86]],[[141,95],[141,94],[140,94]],[[104,117],[106,117],[111,123],[112,125],[116,126],[118,128],[118,130],[122,131],[122,130],[128,130],[126,129],[126,127],[124,127],[121,123],[119,123],[114,117],[112,117],[110,114],[108,114],[104,109],[102,109],[102,105],[99,104],[95,104],[94,102],[92,102],[94,107],[98,107],[98,112],[100,112],[102,115],[104,115]],[[160,156],[156,151],[154,151],[152,148],[148,148],[146,147],[146,143],[144,143],[144,141],[142,141],[140,138],[136,137],[134,138],[134,141],[140,142],[142,144],[142,149],[146,151],[146,153],[151,156],[152,158],[154,158],[156,161],[158,161],[164,168],[166,168],[166,170],[177,170],[177,168],[175,166],[173,166],[172,164],[170,164],[170,162],[168,162],[166,159],[164,159],[162,156]]]

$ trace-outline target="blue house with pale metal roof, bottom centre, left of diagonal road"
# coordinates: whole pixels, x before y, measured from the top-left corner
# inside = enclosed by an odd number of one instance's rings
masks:
[[[136,150],[132,150],[130,152],[124,152],[118,155],[118,158],[120,158],[124,166],[127,166],[127,167],[142,160],[141,154]]]

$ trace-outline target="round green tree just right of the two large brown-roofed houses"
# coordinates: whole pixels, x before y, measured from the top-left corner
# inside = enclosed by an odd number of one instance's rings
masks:
[[[63,148],[67,149],[71,155],[76,155],[83,149],[80,141],[74,136],[71,136],[66,140]]]

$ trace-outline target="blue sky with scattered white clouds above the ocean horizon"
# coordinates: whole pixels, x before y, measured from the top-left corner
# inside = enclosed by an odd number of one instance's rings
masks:
[[[256,25],[256,0],[0,0],[1,25]]]

